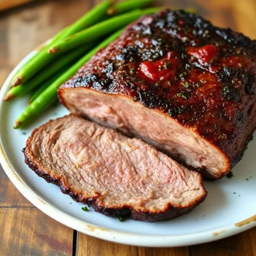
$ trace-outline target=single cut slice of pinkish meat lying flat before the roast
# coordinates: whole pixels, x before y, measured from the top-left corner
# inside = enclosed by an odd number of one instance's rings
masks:
[[[141,140],[73,115],[35,129],[24,155],[38,176],[109,216],[169,220],[206,197],[200,174]]]

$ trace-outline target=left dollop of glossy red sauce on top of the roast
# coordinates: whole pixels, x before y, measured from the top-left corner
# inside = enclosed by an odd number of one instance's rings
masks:
[[[172,80],[178,70],[178,57],[175,52],[168,52],[164,58],[155,62],[144,61],[139,65],[139,76],[150,78],[154,82]]]

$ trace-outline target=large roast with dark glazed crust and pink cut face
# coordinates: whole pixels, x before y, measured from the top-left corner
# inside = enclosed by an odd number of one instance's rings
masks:
[[[210,178],[256,128],[256,41],[184,11],[140,18],[59,90],[72,113],[117,128]]]

